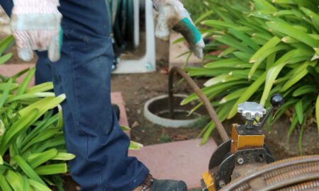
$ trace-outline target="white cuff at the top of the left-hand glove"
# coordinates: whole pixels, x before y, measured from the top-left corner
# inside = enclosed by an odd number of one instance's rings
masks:
[[[59,0],[13,0],[15,13],[57,13]]]

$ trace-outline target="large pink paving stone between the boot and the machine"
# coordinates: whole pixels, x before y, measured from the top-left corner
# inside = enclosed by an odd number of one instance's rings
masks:
[[[200,140],[177,141],[145,146],[129,151],[150,169],[157,179],[184,180],[189,187],[200,187],[201,174],[208,170],[208,162],[217,145],[210,139],[204,146]]]

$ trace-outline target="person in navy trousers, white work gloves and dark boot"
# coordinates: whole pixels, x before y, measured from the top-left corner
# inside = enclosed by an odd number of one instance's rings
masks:
[[[11,16],[18,56],[38,54],[36,83],[53,81],[62,103],[72,178],[82,191],[186,190],[175,180],[156,180],[137,158],[128,157],[130,141],[111,108],[112,40],[105,0],[0,0]],[[153,0],[159,11],[157,37],[174,28],[196,56],[203,39],[179,0]],[[63,18],[62,18],[63,17]]]

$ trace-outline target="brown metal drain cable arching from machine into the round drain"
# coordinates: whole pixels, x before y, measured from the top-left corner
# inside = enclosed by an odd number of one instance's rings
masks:
[[[191,88],[196,93],[198,98],[203,102],[203,105],[205,105],[205,108],[208,111],[208,114],[210,115],[211,119],[216,125],[216,129],[218,130],[220,137],[223,139],[223,141],[228,141],[230,138],[228,137],[225,127],[223,127],[222,123],[220,122],[215,109],[211,105],[211,101],[208,100],[205,94],[201,91],[201,88],[197,86],[195,81],[191,79],[191,77],[188,74],[186,74],[186,72],[183,69],[179,67],[173,67],[171,71],[169,72],[169,115],[171,115],[172,119],[174,120],[173,82],[174,82],[175,73],[178,73],[181,77],[183,77],[186,80],[186,82],[189,84],[189,86],[191,86]]]

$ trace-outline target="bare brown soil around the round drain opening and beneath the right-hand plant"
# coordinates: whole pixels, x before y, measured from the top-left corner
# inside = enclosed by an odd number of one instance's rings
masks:
[[[112,77],[112,91],[121,91],[125,100],[128,121],[133,125],[131,139],[144,145],[158,144],[166,141],[194,139],[201,132],[201,127],[194,128],[165,128],[153,125],[143,116],[143,107],[147,100],[155,96],[167,93],[168,75],[159,72],[152,74],[128,74]],[[201,81],[199,81],[201,83]],[[179,93],[191,93],[191,90],[182,84],[177,88]],[[241,121],[240,117],[224,122],[224,127],[230,132],[233,122]],[[279,122],[272,126],[272,131],[267,132],[266,142],[273,151],[276,159],[288,158],[300,155],[298,149],[299,130],[291,137],[287,137],[289,119],[282,117]],[[203,127],[203,126],[202,126]],[[302,154],[319,154],[319,137],[315,125],[308,127],[303,135]],[[220,144],[218,132],[214,130],[214,139]]]

